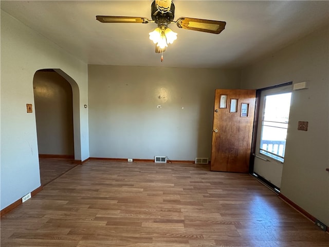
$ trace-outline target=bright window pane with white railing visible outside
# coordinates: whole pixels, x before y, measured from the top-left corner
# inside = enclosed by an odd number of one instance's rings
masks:
[[[291,92],[264,98],[260,153],[284,162]]]

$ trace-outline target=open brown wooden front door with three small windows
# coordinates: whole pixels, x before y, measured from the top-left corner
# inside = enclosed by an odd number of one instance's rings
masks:
[[[215,91],[212,171],[249,171],[255,90]]]

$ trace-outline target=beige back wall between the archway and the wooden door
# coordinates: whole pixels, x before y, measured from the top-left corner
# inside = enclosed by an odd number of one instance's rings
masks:
[[[91,157],[210,158],[215,89],[240,87],[221,69],[88,65],[88,78]]]

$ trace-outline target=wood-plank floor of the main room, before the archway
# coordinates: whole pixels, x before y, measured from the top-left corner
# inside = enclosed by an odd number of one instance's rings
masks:
[[[91,160],[4,215],[1,246],[323,247],[329,234],[249,174]]]

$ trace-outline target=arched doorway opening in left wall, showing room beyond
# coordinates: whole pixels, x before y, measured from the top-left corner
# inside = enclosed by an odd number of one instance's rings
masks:
[[[58,72],[70,78],[60,69],[40,69],[33,77],[42,185],[76,166],[73,87]]]

